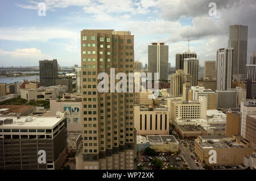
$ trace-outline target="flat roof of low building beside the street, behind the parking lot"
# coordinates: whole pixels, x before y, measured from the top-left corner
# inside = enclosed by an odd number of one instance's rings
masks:
[[[172,135],[148,135],[147,140],[150,141],[151,145],[165,145],[168,144],[167,140],[171,140],[174,144],[179,144],[176,138]]]

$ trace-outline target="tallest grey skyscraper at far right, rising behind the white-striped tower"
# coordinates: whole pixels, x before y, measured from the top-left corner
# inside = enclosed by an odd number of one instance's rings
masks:
[[[245,74],[247,62],[248,27],[241,25],[229,26],[228,47],[234,48],[232,74]]]

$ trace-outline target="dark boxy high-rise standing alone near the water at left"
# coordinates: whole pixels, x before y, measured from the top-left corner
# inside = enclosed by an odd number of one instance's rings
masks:
[[[40,86],[55,86],[55,79],[58,77],[58,64],[57,60],[40,60]]]

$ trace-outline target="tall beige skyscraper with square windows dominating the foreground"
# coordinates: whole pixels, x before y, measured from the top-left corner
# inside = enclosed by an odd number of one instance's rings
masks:
[[[110,80],[110,68],[115,68],[115,75],[134,72],[134,35],[129,31],[82,30],[81,66],[82,169],[134,169],[133,93],[97,90],[99,73],[107,73]]]

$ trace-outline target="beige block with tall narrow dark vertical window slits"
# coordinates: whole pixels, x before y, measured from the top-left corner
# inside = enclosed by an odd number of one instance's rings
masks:
[[[169,134],[169,114],[164,106],[134,106],[134,127],[138,135]]]

